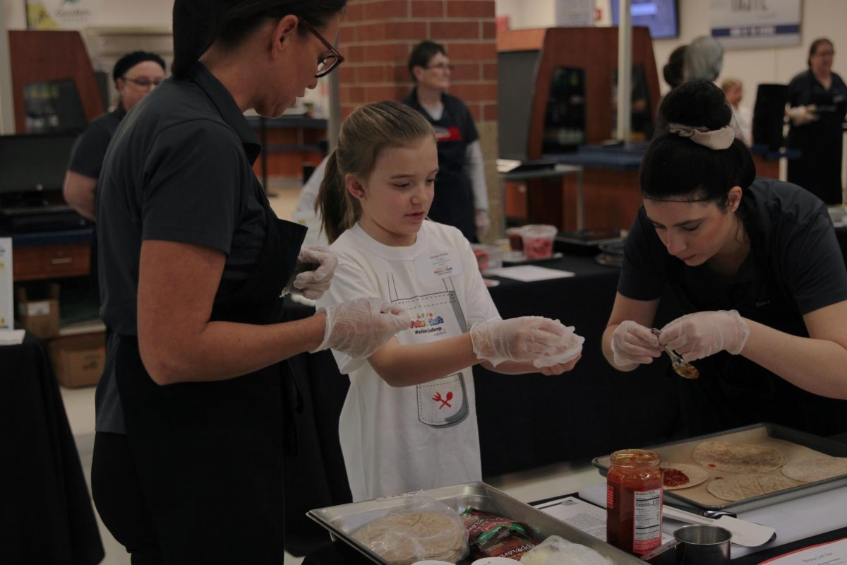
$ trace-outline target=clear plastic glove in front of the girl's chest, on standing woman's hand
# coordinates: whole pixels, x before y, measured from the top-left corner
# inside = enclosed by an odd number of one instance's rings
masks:
[[[357,298],[327,307],[324,341],[315,349],[335,349],[354,359],[367,358],[412,322],[402,308],[382,298]]]

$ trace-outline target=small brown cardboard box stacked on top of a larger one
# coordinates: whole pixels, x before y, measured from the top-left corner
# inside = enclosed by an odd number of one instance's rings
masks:
[[[48,346],[58,381],[68,388],[97,385],[106,363],[106,333],[62,335]]]

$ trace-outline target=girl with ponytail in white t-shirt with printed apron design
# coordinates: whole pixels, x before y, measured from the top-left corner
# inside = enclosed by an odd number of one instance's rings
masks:
[[[462,233],[426,219],[438,173],[432,126],[396,102],[344,123],[316,206],[338,256],[327,307],[382,296],[412,322],[350,375],[341,451],[353,500],[482,478],[471,368],[561,374],[583,338],[558,321],[501,320]]]

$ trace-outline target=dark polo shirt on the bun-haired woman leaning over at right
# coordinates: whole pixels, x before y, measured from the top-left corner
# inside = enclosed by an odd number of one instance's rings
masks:
[[[777,330],[808,335],[804,314],[847,300],[847,269],[826,206],[799,186],[758,178],[739,209],[750,255],[727,279],[668,253],[642,206],[627,237],[617,290],[654,300],[667,283],[684,313],[737,309]]]

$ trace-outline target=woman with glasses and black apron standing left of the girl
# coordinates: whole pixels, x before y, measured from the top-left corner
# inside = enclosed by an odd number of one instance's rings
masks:
[[[173,75],[109,147],[97,218],[113,337],[91,478],[133,563],[281,563],[280,362],[328,347],[368,356],[408,327],[376,299],[280,323],[285,291],[317,298],[335,258],[274,216],[243,113],[280,116],[343,60],[324,37],[344,5],[176,0]]]

